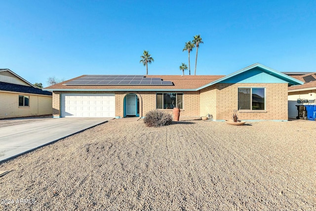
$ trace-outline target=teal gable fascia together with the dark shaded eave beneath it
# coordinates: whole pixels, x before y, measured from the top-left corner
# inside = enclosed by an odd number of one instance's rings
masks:
[[[206,88],[206,87],[208,87],[208,86],[210,86],[210,85],[213,85],[213,84],[224,83],[223,81],[228,80],[228,79],[231,79],[231,78],[233,78],[233,77],[235,77],[235,76],[237,76],[237,75],[239,75],[239,74],[241,74],[241,73],[244,73],[244,72],[246,72],[246,71],[248,71],[248,70],[251,70],[251,69],[254,69],[254,68],[256,68],[256,67],[261,68],[262,71],[268,72],[269,74],[274,75],[274,76],[277,77],[277,78],[281,78],[283,81],[285,81],[286,83],[288,83],[288,84],[290,84],[290,85],[304,84],[303,82],[301,82],[301,81],[299,81],[299,80],[297,80],[297,79],[294,79],[294,78],[292,78],[292,77],[290,77],[290,76],[288,76],[288,75],[285,75],[285,74],[283,74],[283,73],[280,73],[280,72],[278,72],[278,71],[276,71],[276,70],[273,70],[273,69],[271,69],[271,68],[269,68],[269,67],[266,67],[266,66],[264,66],[264,65],[262,65],[262,64],[256,63],[256,64],[250,65],[250,66],[248,66],[248,67],[246,67],[246,68],[243,68],[243,69],[241,69],[241,70],[238,70],[238,71],[236,71],[235,73],[232,73],[232,74],[230,74],[230,75],[228,75],[228,76],[225,76],[225,77],[220,78],[220,79],[218,79],[218,80],[216,80],[216,81],[213,81],[213,82],[211,82],[211,83],[209,83],[209,84],[203,85],[203,86],[197,88],[197,90]]]

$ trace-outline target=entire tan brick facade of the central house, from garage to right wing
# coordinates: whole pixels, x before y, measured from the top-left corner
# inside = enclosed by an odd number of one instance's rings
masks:
[[[184,91],[183,109],[180,120],[197,119],[207,114],[213,115],[213,120],[229,120],[233,110],[238,107],[238,87],[265,87],[266,110],[239,111],[241,120],[287,120],[287,84],[215,84],[200,91]],[[53,117],[60,117],[61,93],[114,93],[116,101],[116,116],[123,117],[124,97],[135,93],[139,98],[140,117],[150,110],[156,109],[156,91],[67,91],[53,92]],[[170,112],[172,109],[162,110]]]

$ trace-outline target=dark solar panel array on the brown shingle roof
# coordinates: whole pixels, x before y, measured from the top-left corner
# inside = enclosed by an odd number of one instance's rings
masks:
[[[173,85],[160,78],[146,78],[140,75],[88,75],[66,85]]]

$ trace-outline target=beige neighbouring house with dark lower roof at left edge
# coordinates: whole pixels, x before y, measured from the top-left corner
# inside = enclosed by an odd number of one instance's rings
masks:
[[[52,114],[52,93],[0,69],[0,118]]]

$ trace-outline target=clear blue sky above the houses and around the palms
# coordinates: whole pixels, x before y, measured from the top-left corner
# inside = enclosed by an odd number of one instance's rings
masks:
[[[144,75],[143,50],[155,59],[150,75],[181,75],[184,44],[198,34],[197,75],[228,75],[257,62],[316,72],[316,0],[5,0],[0,8],[0,68],[32,84]]]

